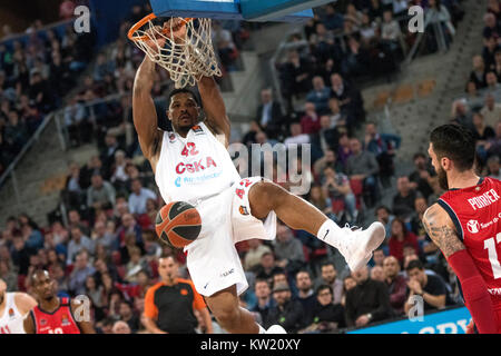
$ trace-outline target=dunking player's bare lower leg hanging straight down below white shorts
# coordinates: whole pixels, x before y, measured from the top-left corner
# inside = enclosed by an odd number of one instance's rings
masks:
[[[258,334],[259,330],[264,332],[255,322],[254,316],[239,306],[235,285],[219,290],[210,297],[205,297],[205,301],[217,323],[228,333]]]

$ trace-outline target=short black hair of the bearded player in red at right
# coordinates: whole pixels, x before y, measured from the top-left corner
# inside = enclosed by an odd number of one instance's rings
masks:
[[[430,142],[439,159],[452,160],[459,171],[473,168],[475,161],[475,138],[473,132],[460,125],[442,125],[430,135]]]

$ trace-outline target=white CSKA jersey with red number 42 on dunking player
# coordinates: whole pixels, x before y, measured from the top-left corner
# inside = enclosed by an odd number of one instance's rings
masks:
[[[226,147],[204,122],[194,126],[186,138],[164,132],[155,180],[166,204],[214,196],[238,181]]]

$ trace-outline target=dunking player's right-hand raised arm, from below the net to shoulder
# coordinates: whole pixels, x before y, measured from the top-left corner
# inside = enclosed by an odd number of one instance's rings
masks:
[[[206,123],[214,134],[225,136],[225,146],[227,147],[229,145],[230,125],[217,82],[213,77],[202,77],[198,81],[198,92],[207,117]]]

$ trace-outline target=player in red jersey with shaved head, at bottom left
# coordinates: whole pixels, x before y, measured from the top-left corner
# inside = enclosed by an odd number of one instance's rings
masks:
[[[37,270],[31,285],[39,304],[24,319],[27,334],[96,334],[90,320],[77,322],[75,312],[80,304],[56,295],[53,280],[46,270]]]

